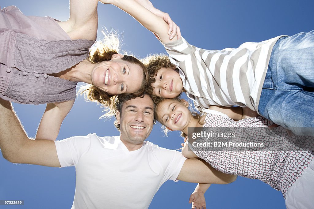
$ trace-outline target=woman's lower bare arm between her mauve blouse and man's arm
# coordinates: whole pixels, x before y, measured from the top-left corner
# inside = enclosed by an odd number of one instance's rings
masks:
[[[70,112],[74,100],[49,103],[37,129],[36,139],[56,140],[62,121]]]

